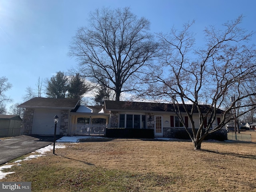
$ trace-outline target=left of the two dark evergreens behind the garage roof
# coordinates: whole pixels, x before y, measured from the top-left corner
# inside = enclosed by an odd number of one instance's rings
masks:
[[[46,95],[48,98],[65,98],[68,90],[68,78],[63,72],[57,72],[56,76],[52,76],[47,83]]]

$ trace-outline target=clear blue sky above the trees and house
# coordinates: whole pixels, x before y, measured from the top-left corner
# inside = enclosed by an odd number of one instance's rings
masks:
[[[198,40],[205,26],[221,28],[240,14],[245,16],[242,26],[256,31],[254,0],[0,0],[0,77],[12,84],[6,95],[13,104],[22,102],[26,87],[36,88],[38,77],[50,78],[77,65],[67,56],[70,40],[79,26],[86,26],[88,14],[102,6],[130,6],[150,20],[152,32],[181,29],[195,20]]]

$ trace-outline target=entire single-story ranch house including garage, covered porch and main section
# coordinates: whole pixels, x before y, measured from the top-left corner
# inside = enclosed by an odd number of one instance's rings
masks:
[[[55,115],[59,117],[57,134],[64,136],[104,135],[106,128],[138,128],[153,129],[156,137],[172,138],[175,130],[184,129],[173,104],[166,103],[105,101],[104,106],[80,106],[76,99],[32,98],[18,107],[26,109],[23,134],[54,134]],[[203,111],[207,107],[201,106]],[[184,109],[182,113],[191,128]],[[199,126],[199,117],[194,116]],[[222,110],[218,110],[213,126],[221,118]]]

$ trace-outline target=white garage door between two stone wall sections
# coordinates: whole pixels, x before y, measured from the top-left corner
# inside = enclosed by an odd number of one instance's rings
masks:
[[[59,117],[59,122],[57,123],[56,134],[60,133],[60,110],[35,110],[32,134],[38,135],[53,135],[54,134],[54,116]]]

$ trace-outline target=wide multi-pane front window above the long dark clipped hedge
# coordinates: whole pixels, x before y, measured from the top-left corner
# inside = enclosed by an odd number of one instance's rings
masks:
[[[132,115],[132,114],[120,114],[119,116],[120,128],[146,128],[146,116],[145,115]]]

